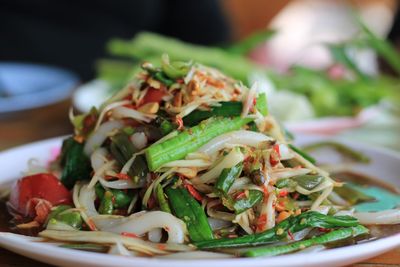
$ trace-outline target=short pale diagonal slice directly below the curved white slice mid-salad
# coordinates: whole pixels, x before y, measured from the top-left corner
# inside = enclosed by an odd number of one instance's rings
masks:
[[[239,149],[232,149],[224,159],[214,168],[202,174],[198,179],[193,179],[193,183],[212,183],[215,182],[221,171],[226,168],[232,168],[244,160],[244,155]]]

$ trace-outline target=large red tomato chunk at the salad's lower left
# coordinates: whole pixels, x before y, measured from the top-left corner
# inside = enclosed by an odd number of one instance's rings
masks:
[[[71,193],[50,173],[39,173],[25,176],[18,180],[10,194],[11,206],[25,216],[35,216],[33,199],[43,199],[51,205],[71,204]]]

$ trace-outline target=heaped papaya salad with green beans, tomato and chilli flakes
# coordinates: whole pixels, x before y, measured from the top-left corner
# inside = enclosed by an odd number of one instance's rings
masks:
[[[343,183],[291,144],[262,88],[161,62],[143,63],[99,109],[70,112],[74,134],[60,154],[30,164],[10,192],[15,229],[65,248],[178,258],[275,256],[368,237],[371,216],[345,198],[354,191],[339,194]]]

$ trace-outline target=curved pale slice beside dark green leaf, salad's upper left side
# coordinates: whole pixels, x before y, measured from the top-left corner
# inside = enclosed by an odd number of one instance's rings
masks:
[[[101,124],[87,139],[84,147],[85,154],[90,156],[96,148],[103,144],[110,132],[122,127],[124,127],[124,124],[120,121],[107,121]]]

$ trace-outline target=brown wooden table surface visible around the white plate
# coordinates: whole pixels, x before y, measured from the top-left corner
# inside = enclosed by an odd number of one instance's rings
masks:
[[[68,120],[70,101],[0,117],[0,150],[72,132]],[[0,214],[0,221],[4,215]],[[0,225],[0,231],[4,226]],[[340,255],[338,255],[340,257]],[[0,267],[49,266],[0,248]],[[353,267],[400,267],[400,248]]]

